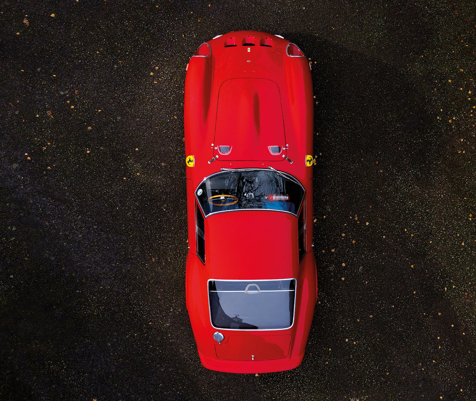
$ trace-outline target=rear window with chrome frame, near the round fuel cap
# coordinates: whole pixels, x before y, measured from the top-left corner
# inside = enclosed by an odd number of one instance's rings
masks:
[[[293,325],[296,280],[208,281],[217,329],[276,330]]]

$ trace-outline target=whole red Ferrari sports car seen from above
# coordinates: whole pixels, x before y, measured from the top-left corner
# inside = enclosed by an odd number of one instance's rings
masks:
[[[317,299],[310,65],[278,35],[200,45],[185,80],[187,310],[203,366],[299,366]]]

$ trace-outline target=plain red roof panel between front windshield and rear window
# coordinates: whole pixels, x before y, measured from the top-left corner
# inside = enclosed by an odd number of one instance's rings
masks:
[[[205,219],[205,267],[223,280],[297,275],[297,218],[282,211],[229,211]]]

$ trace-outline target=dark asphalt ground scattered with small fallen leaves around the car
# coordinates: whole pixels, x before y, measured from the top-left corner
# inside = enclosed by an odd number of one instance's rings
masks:
[[[0,399],[476,400],[472,1],[0,12]],[[185,309],[185,65],[239,29],[316,95],[319,303],[259,376],[204,369]]]

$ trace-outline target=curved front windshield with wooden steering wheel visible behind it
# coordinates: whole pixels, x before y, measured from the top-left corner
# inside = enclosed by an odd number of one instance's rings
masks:
[[[304,189],[288,174],[274,170],[231,170],[204,180],[196,195],[205,217],[238,209],[270,209],[297,215]]]

